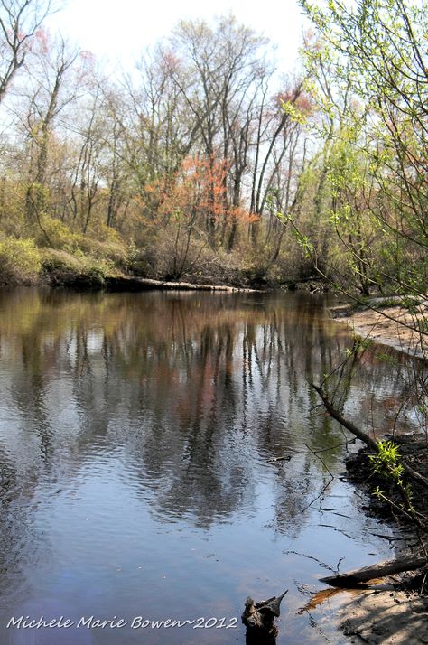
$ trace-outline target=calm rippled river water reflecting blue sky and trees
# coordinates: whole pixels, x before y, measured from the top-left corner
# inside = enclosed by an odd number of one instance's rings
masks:
[[[243,644],[247,595],[284,589],[279,645],[349,641],[347,594],[306,607],[318,579],[391,552],[358,491],[330,481],[348,448],[309,381],[352,341],[326,304],[0,293],[2,644]],[[368,350],[346,388],[362,427],[394,423],[405,360],[390,356]],[[167,619],[193,623],[148,622]]]

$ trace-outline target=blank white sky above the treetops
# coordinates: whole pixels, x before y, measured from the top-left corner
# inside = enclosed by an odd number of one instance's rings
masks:
[[[181,19],[232,13],[240,23],[278,45],[284,71],[291,70],[301,41],[302,15],[296,0],[64,0],[45,25],[112,67],[129,67],[144,49],[171,33]]]

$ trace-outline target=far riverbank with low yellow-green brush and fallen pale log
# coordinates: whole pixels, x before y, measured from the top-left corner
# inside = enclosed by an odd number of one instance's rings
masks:
[[[0,286],[51,285],[111,291],[149,288],[208,291],[221,287],[224,291],[286,289],[311,293],[329,288],[319,276],[311,272],[302,274],[297,265],[280,267],[257,257],[255,264],[253,253],[231,255],[219,249],[200,257],[199,263],[178,270],[168,255],[158,266],[159,263],[150,260],[147,249],[135,250],[117,240],[69,238],[70,235],[60,239],[53,236],[52,247],[38,246],[32,238],[0,238]]]

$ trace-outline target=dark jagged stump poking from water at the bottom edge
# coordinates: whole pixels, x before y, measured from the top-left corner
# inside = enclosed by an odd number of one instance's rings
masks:
[[[246,607],[242,614],[242,622],[247,627],[247,645],[275,645],[278,628],[274,619],[279,617],[281,601],[284,595],[274,596],[268,600],[255,603],[248,596]]]

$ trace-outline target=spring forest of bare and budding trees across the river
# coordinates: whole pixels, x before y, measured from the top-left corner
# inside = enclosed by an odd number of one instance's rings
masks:
[[[119,73],[49,33],[49,4],[2,0],[1,282],[424,294],[426,5],[299,5],[295,70],[228,15]]]

